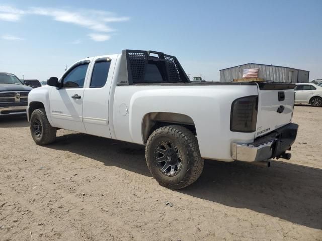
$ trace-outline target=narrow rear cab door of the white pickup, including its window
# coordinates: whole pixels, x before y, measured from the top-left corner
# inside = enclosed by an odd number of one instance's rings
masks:
[[[88,134],[111,138],[109,129],[109,95],[116,58],[96,57],[91,78],[84,90],[83,121]]]

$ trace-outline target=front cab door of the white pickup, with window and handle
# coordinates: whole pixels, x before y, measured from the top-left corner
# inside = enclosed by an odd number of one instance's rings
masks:
[[[84,84],[90,61],[74,64],[61,78],[61,87],[50,93],[54,127],[86,133],[83,123]]]

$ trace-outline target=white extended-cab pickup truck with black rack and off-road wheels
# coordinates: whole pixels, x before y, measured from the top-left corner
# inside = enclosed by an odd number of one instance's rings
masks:
[[[191,83],[176,57],[123,50],[86,58],[33,89],[28,120],[38,145],[57,129],[145,145],[159,184],[184,188],[204,159],[259,163],[290,158],[294,84]]]

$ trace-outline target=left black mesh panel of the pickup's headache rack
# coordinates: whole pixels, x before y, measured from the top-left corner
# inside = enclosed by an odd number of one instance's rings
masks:
[[[144,75],[145,64],[147,62],[146,51],[128,51],[128,61],[130,63],[130,70],[132,75],[132,81],[140,82]]]

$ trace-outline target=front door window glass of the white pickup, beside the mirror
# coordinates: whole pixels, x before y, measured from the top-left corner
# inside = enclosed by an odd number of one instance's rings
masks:
[[[78,65],[63,78],[63,88],[83,88],[89,64]]]

